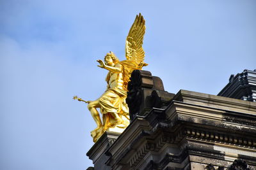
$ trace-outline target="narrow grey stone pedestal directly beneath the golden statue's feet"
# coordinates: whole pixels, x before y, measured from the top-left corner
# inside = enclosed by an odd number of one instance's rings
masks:
[[[110,130],[110,131],[109,131]],[[108,155],[106,151],[115,142],[116,138],[120,136],[121,132],[113,132],[111,129],[102,134],[98,141],[92,146],[92,148],[86,153],[86,155],[93,161],[94,169],[111,169],[106,165]]]

